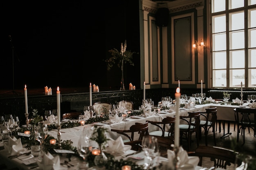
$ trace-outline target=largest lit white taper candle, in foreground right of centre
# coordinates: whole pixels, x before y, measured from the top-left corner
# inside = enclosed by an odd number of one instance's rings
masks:
[[[180,88],[178,87],[176,89],[175,93],[175,99],[176,99],[176,113],[175,113],[175,133],[174,133],[174,144],[177,147],[180,147]]]

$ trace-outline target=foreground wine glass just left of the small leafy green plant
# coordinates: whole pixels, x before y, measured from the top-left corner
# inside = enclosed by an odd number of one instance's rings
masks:
[[[85,128],[86,129],[86,128]],[[83,164],[80,164],[80,169],[83,168],[87,168],[88,167],[88,163],[86,162],[86,159],[88,157],[88,155],[90,154],[91,150],[92,150],[92,144],[90,141],[90,134],[85,132],[85,129],[82,133],[82,135],[79,138],[78,141],[78,145],[77,145],[77,151],[80,155],[80,157],[83,158]]]

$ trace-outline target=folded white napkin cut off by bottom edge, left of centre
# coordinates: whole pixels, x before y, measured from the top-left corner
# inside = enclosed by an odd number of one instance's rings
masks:
[[[37,160],[37,164],[42,170],[59,170],[60,169],[60,157],[52,156],[49,152],[44,154],[41,159]]]

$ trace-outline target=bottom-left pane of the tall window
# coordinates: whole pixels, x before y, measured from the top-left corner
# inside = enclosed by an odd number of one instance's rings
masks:
[[[213,86],[214,87],[227,87],[227,71],[226,70],[213,70]]]

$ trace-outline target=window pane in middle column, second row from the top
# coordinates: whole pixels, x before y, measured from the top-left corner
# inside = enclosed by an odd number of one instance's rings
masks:
[[[229,15],[230,31],[244,29],[245,28],[245,14],[240,13],[231,13]]]

